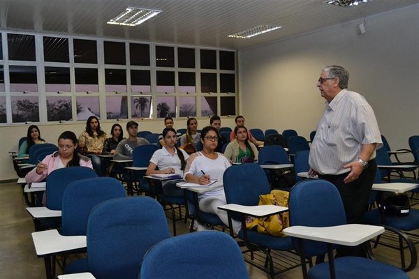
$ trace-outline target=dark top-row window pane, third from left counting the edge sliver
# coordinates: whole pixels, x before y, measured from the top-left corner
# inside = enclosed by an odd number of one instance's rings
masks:
[[[69,62],[68,38],[43,37],[44,61]]]

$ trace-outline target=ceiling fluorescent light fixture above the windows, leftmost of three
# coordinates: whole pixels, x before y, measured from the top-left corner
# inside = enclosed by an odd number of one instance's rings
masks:
[[[135,26],[149,20],[159,13],[161,13],[161,10],[128,7],[122,13],[119,13],[119,15],[108,21],[108,24]]]

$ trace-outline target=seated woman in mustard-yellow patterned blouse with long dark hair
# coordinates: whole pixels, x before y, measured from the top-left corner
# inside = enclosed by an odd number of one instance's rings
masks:
[[[96,155],[102,154],[103,143],[106,140],[106,133],[101,129],[101,123],[96,116],[90,116],[86,122],[86,130],[79,137],[79,147],[91,158],[91,163],[98,176],[105,176],[101,158]]]

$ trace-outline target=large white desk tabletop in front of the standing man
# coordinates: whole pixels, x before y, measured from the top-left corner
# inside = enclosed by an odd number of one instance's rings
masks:
[[[383,227],[360,224],[348,224],[335,227],[293,226],[284,229],[284,233],[288,236],[341,244],[344,246],[357,246],[383,232]]]

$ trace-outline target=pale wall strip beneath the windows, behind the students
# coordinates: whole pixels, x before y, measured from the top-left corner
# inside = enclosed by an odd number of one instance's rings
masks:
[[[122,128],[124,129],[124,136],[128,137],[126,133],[126,123],[128,121],[118,121]],[[163,119],[159,119],[158,121],[150,121],[150,120],[143,120],[137,121],[139,126],[138,130],[149,130],[153,133],[161,133],[163,130],[164,124]],[[110,137],[110,128],[114,122],[103,121],[101,122],[101,128],[108,134]],[[205,126],[210,125],[210,119],[203,118],[198,119],[198,129],[202,129]],[[13,163],[10,160],[10,156],[8,155],[9,150],[17,150],[17,144],[21,137],[26,137],[27,130],[30,125],[25,126],[2,126],[0,127],[0,146],[1,146],[1,156],[0,156],[0,181],[8,180],[8,179],[15,179],[17,178],[16,172],[13,169]],[[38,125],[39,130],[41,130],[41,137],[50,142],[52,144],[57,144],[57,140],[59,135],[66,130],[71,130],[75,133],[75,135],[79,136],[86,123],[62,123],[60,125]],[[233,119],[221,119],[221,126],[223,127],[231,127],[235,126],[234,118]],[[175,129],[186,128],[186,119],[175,119]]]

